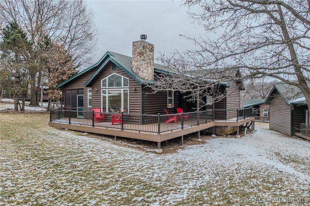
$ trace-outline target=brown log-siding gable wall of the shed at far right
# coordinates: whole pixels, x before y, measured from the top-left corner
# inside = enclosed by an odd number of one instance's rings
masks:
[[[282,100],[278,92],[271,97],[269,115],[271,130],[291,135],[291,106]]]

